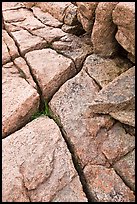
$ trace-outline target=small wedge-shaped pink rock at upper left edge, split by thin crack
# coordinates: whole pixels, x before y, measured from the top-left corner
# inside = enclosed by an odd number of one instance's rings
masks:
[[[5,64],[12,58],[19,56],[18,49],[13,39],[9,36],[6,30],[2,30],[2,62]]]

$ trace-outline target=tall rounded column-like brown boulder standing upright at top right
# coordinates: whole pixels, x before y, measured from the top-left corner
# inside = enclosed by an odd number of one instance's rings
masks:
[[[104,57],[110,57],[118,52],[118,42],[115,39],[116,25],[112,21],[112,11],[118,2],[99,2],[95,11],[91,41],[94,52]]]

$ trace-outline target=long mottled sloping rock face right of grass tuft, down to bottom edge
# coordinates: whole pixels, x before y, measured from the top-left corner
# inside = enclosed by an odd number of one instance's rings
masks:
[[[59,116],[67,140],[74,146],[95,200],[133,201],[133,192],[111,166],[133,151],[135,138],[120,123],[114,124],[109,115],[92,113],[89,102],[98,93],[93,79],[82,70],[60,88],[49,104]]]

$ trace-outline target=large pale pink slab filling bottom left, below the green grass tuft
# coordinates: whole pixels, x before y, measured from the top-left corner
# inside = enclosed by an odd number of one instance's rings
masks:
[[[5,138],[2,154],[3,202],[57,202],[66,193],[64,201],[87,202],[53,120],[40,117]]]

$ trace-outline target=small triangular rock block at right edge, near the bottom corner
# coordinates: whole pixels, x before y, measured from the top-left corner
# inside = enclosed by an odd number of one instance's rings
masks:
[[[135,191],[135,150],[117,161],[113,167],[130,188]]]

